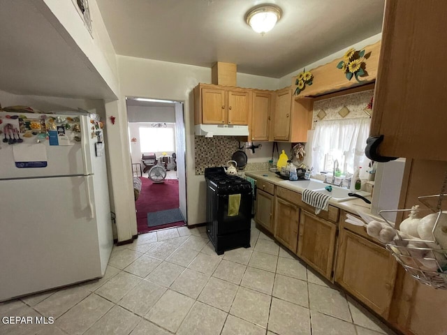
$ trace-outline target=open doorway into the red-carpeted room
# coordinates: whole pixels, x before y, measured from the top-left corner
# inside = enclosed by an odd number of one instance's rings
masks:
[[[126,98],[138,234],[186,225],[183,103]]]

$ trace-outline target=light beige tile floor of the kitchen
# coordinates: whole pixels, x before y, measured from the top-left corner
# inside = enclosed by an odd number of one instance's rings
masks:
[[[393,334],[252,225],[251,248],[216,255],[205,228],[171,228],[117,246],[101,280],[0,304],[11,335]]]

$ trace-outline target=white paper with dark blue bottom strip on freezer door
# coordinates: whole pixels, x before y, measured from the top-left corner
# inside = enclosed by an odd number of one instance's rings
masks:
[[[13,155],[17,168],[45,168],[47,166],[45,144],[16,144],[13,146]]]

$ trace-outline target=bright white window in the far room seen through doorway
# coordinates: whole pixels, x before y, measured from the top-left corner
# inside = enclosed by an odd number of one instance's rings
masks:
[[[141,152],[174,152],[174,128],[140,127]]]

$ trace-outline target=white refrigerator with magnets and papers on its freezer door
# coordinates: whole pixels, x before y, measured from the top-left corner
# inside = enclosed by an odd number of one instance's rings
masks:
[[[113,237],[95,117],[0,112],[0,301],[103,276]]]

